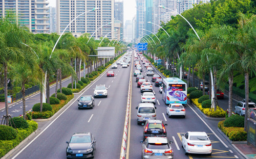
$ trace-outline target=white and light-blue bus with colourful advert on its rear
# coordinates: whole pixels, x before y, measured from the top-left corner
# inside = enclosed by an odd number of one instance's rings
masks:
[[[165,104],[169,103],[187,103],[187,84],[180,78],[163,79],[163,100]]]

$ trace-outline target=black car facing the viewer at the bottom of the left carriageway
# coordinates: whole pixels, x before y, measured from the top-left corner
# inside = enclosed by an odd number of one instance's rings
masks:
[[[96,140],[91,133],[75,133],[66,141],[67,158],[93,158]]]

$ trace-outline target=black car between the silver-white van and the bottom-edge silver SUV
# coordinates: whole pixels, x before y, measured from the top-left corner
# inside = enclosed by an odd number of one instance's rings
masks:
[[[147,137],[166,137],[166,129],[162,120],[147,120],[144,125],[143,140]]]

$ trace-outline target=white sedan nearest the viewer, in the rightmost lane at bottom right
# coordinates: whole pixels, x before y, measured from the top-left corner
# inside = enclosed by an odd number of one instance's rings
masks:
[[[205,153],[211,155],[212,146],[209,136],[205,132],[188,131],[182,135],[182,147],[185,154],[188,153]]]

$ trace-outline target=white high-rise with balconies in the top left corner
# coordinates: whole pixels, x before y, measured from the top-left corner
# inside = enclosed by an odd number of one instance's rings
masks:
[[[18,17],[20,24],[28,27],[33,33],[49,33],[49,2],[47,0],[34,1],[0,1],[0,18],[5,17],[5,13],[13,11]]]

